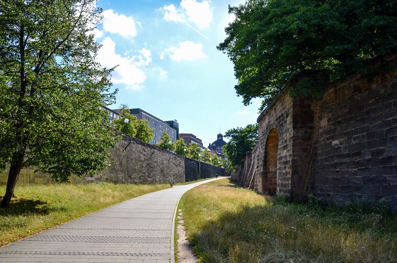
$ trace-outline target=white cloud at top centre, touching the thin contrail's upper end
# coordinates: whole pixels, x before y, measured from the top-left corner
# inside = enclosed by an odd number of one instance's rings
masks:
[[[182,0],[181,8],[177,9],[175,5],[164,5],[160,10],[164,13],[166,21],[194,22],[200,28],[206,28],[212,20],[212,11],[210,8],[210,1],[198,2],[197,0]]]

